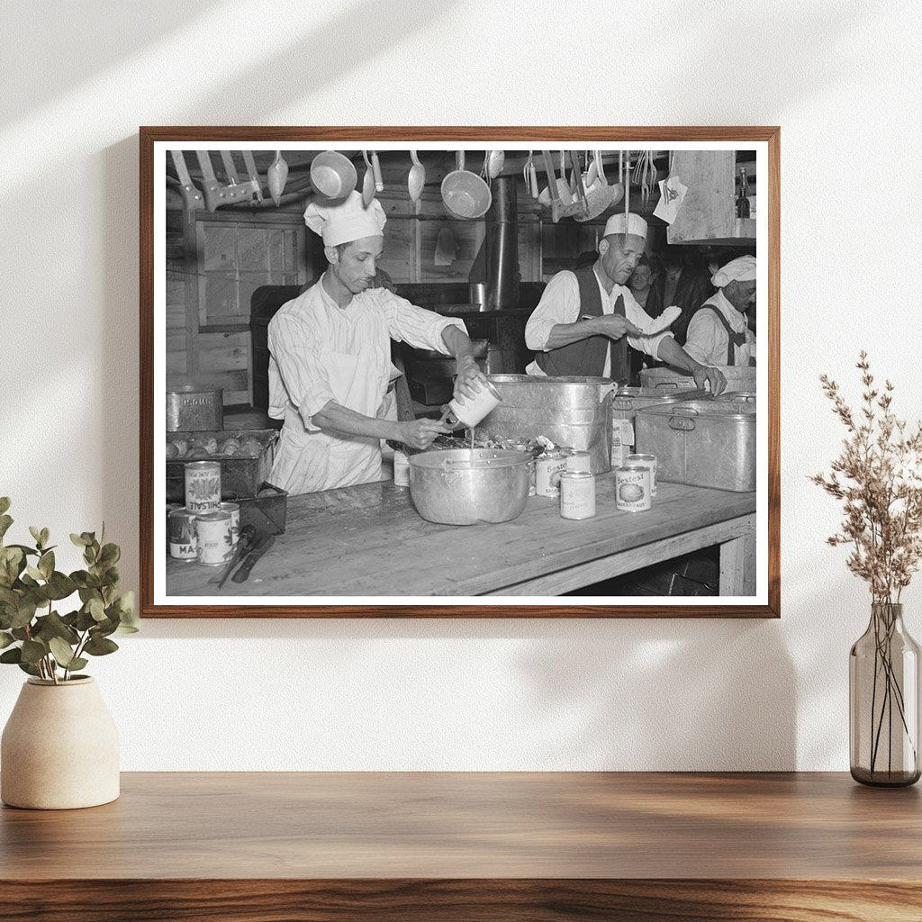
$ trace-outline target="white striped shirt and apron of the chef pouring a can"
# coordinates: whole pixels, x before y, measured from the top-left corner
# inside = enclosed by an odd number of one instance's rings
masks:
[[[462,321],[424,311],[386,289],[365,290],[345,308],[323,277],[269,322],[269,416],[285,420],[270,480],[292,494],[381,479],[377,438],[320,431],[313,414],[330,400],[383,419],[397,372],[390,341],[447,354],[446,326]]]

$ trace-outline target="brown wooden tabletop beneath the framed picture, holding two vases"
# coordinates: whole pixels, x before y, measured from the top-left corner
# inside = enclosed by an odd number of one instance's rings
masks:
[[[847,774],[124,774],[0,810],[0,917],[922,918],[918,787]]]

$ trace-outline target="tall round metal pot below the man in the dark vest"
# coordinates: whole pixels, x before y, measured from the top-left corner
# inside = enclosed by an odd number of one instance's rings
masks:
[[[608,378],[491,374],[502,403],[477,427],[479,436],[534,439],[589,453],[593,474],[611,469],[611,390]]]

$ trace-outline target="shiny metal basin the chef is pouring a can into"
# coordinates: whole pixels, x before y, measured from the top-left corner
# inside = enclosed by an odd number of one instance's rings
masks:
[[[409,494],[429,522],[508,522],[528,501],[531,455],[495,448],[457,448],[409,457]]]

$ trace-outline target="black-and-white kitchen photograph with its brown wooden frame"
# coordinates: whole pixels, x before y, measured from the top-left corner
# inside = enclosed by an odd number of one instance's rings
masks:
[[[144,617],[779,617],[779,129],[140,130]]]

